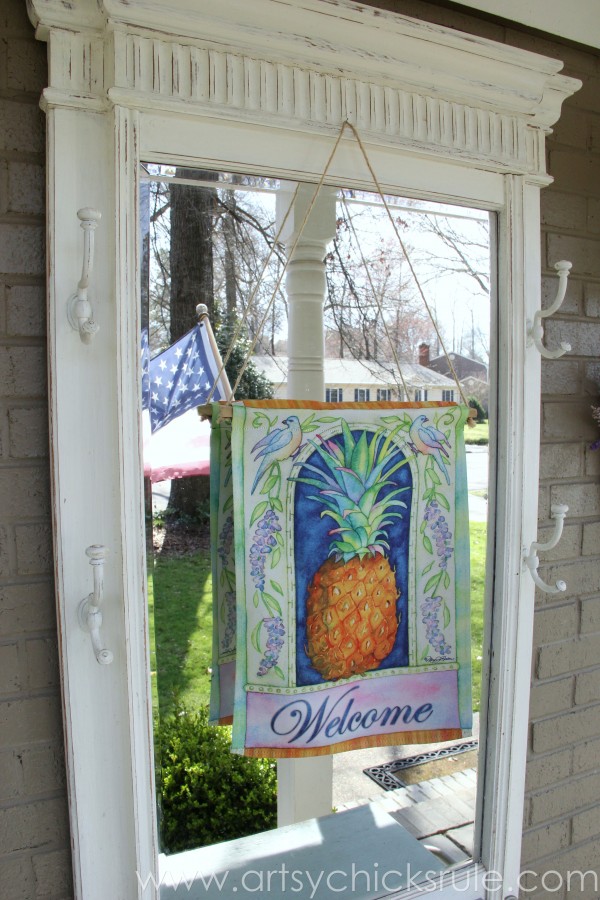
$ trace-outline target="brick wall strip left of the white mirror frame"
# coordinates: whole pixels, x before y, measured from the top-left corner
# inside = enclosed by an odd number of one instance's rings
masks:
[[[72,896],[45,351],[46,45],[0,3],[0,897]]]

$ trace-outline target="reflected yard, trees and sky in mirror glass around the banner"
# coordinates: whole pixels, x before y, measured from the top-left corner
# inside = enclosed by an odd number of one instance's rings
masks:
[[[282,209],[295,190],[239,173],[142,167],[142,406],[161,847],[174,853],[277,826],[275,761],[232,754],[229,725],[209,724],[213,577],[235,604],[235,576],[211,563],[211,540],[233,552],[233,526],[231,518],[215,523],[213,506],[211,534],[210,423],[200,413],[207,400],[226,400],[232,391],[236,399],[293,396],[292,332],[306,327],[298,303],[314,294],[311,278],[320,267],[323,321],[314,342],[316,356],[324,344],[325,394],[319,399],[466,399],[477,412],[474,427],[465,429],[473,735],[333,757],[336,813],[385,798],[397,822],[453,865],[472,855],[475,817],[490,457],[490,217],[327,187],[317,224],[308,219],[296,247],[305,276],[291,277],[286,253],[294,226],[286,231]],[[297,221],[295,227],[297,234]],[[443,525],[438,538],[434,557],[450,547]],[[269,621],[276,623],[275,609]],[[231,657],[220,660],[225,666],[234,666],[234,624],[226,616],[220,622],[221,636],[229,630],[231,637]],[[271,630],[276,650],[275,625]]]

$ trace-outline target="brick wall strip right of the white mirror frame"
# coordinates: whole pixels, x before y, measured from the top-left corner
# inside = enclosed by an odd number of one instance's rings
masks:
[[[547,344],[572,352],[542,363],[540,522],[553,503],[569,506],[547,581],[567,591],[536,598],[530,756],[523,863],[538,872],[588,870],[584,889],[556,876],[529,897],[600,896],[600,436],[590,405],[600,402],[600,51],[586,52],[509,31],[511,44],[565,62],[583,81],[547,144],[555,182],[542,192],[543,293],[555,291],[554,263],[569,259],[565,303],[548,323]],[[549,533],[549,530],[546,532]],[[544,531],[541,531],[544,534]],[[592,872],[598,877],[594,884]],[[540,885],[540,879],[535,881]],[[533,884],[531,885],[533,887]]]

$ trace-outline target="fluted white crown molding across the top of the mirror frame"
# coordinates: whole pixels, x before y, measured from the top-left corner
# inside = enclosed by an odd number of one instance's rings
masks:
[[[28,3],[47,105],[348,119],[378,143],[544,177],[544,134],[580,86],[556,60],[348,0]]]

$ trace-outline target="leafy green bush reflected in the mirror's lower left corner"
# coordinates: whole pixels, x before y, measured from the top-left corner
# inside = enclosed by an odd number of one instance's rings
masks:
[[[231,729],[209,725],[207,707],[178,707],[158,726],[156,744],[166,853],[276,827],[275,762],[231,753]]]

